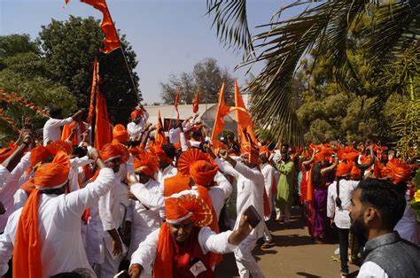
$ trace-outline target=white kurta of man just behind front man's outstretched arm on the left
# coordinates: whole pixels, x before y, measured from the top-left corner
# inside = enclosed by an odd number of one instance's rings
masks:
[[[136,251],[138,244],[143,242],[154,230],[162,224],[161,216],[165,215],[165,199],[159,193],[159,182],[147,181],[131,186],[131,192],[137,201],[132,200],[128,207],[128,218],[131,221],[131,242],[128,258]]]

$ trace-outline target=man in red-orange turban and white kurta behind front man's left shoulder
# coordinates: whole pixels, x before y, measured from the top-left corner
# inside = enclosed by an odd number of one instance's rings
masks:
[[[128,258],[146,236],[160,227],[161,218],[165,218],[164,198],[159,194],[159,182],[153,178],[158,172],[158,164],[158,159],[149,152],[134,158],[134,171],[139,182],[130,186],[135,199],[128,206],[126,219],[126,229],[131,235]]]

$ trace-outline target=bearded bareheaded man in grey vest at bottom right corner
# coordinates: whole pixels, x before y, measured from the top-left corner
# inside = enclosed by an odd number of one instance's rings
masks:
[[[354,191],[351,229],[366,236],[358,277],[420,277],[420,248],[393,231],[406,207],[401,184],[367,179]]]

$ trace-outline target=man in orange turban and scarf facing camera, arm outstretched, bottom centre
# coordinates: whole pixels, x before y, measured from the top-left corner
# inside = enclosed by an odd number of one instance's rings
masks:
[[[206,227],[213,214],[195,190],[167,197],[165,210],[167,221],[131,257],[131,277],[214,277],[209,252],[234,251],[252,229],[243,215],[235,231],[215,235]]]

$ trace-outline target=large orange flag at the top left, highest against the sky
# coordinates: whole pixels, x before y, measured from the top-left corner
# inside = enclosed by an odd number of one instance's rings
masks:
[[[68,4],[68,2],[69,0],[66,0],[66,4]],[[93,6],[104,15],[102,18],[101,29],[105,33],[105,39],[103,41],[105,49],[101,49],[101,51],[108,54],[121,47],[120,37],[113,25],[113,19],[111,18],[111,13],[108,10],[105,0],[81,0],[81,2]]]

